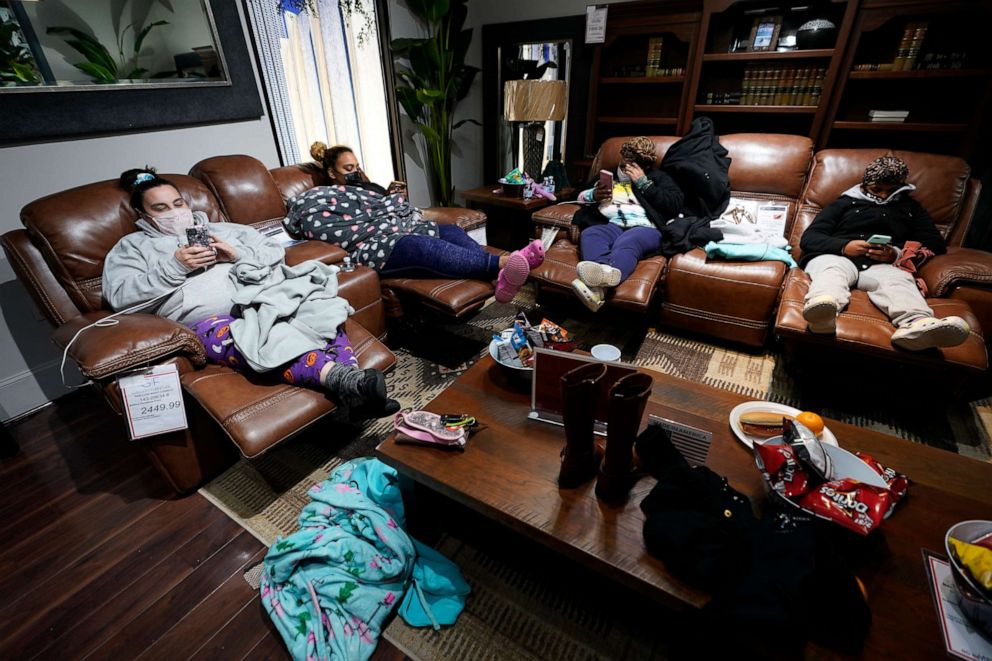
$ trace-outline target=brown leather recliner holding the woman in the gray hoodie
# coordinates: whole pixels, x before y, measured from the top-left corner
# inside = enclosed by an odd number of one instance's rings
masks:
[[[163,176],[178,186],[192,209],[206,213],[212,222],[229,220],[201,181]],[[137,216],[127,198],[116,181],[55,193],[24,207],[25,229],[0,239],[18,278],[56,326],[53,339],[60,347],[79,329],[111,314],[102,297],[101,275],[110,249],[135,231]],[[287,261],[303,261],[330,248],[308,242],[290,248]],[[341,296],[358,311],[345,330],[359,363],[388,370],[395,356],[377,339],[385,333],[378,276],[359,267],[341,274],[339,282]],[[160,363],[178,367],[189,429],[137,441],[176,491],[196,489],[233,463],[238,451],[256,457],[335,409],[319,392],[205,365],[196,335],[169,319],[143,313],[118,319],[115,326],[80,335],[69,355],[118,413],[118,375]]]

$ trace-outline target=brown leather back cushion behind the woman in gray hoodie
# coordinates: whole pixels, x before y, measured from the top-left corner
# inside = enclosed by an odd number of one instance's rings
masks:
[[[194,211],[211,222],[226,217],[210,191],[184,174],[163,174]],[[118,241],[135,231],[138,214],[116,180],[48,195],[21,210],[21,221],[59,284],[81,312],[104,309],[103,260]]]

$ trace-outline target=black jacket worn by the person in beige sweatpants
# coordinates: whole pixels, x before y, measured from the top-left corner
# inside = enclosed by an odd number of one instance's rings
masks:
[[[872,234],[887,234],[892,245],[902,248],[906,241],[919,241],[941,255],[947,244],[923,205],[907,193],[900,193],[888,204],[875,204],[847,195],[828,204],[803,232],[799,247],[805,267],[820,255],[843,255],[848,241],[867,240]],[[848,257],[859,269],[878,264],[868,257]]]

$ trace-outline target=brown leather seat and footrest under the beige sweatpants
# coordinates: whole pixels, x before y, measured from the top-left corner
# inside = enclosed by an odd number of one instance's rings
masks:
[[[803,319],[803,299],[809,290],[809,276],[799,269],[792,269],[785,279],[782,302],[775,320],[775,332],[783,337],[793,337],[808,343],[833,345],[847,350],[901,359],[913,363],[939,366],[951,364],[970,371],[988,367],[988,354],[981,325],[965,301],[928,298],[927,304],[938,317],[955,315],[971,326],[971,336],[963,344],[932,351],[903,351],[892,346],[895,328],[882,312],[868,300],[867,294],[851,292],[851,303],[837,317],[837,335],[816,335],[806,329]]]

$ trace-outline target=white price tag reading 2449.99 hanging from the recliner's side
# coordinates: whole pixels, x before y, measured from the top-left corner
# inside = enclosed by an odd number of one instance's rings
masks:
[[[155,365],[117,379],[131,440],[186,429],[186,407],[175,365]]]

